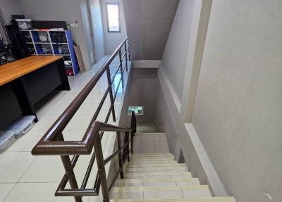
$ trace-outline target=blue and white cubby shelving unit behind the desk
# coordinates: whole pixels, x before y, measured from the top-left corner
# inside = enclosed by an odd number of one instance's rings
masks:
[[[71,30],[21,30],[21,32],[30,54],[63,56],[67,75],[76,76],[79,73]]]

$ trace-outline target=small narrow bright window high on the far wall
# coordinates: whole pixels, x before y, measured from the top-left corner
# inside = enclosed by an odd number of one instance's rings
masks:
[[[106,3],[106,18],[108,23],[108,32],[121,32],[118,3]]]

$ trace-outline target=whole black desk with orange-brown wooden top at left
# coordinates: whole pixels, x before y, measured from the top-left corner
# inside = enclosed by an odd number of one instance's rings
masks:
[[[53,90],[71,90],[63,57],[32,56],[0,66],[0,129],[21,115],[35,115],[34,105]]]

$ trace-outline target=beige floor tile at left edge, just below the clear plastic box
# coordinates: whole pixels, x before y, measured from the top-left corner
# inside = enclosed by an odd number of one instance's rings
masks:
[[[28,152],[6,152],[0,158],[0,182],[18,182],[35,157]]]

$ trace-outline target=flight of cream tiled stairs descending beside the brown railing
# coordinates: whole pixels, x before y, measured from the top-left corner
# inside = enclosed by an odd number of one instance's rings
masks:
[[[137,137],[154,135],[160,133],[142,131]],[[131,155],[125,165],[124,179],[117,179],[111,189],[111,202],[235,202],[233,197],[212,197],[209,187],[193,178],[185,163],[177,163],[173,158],[171,153]]]

